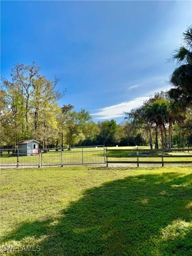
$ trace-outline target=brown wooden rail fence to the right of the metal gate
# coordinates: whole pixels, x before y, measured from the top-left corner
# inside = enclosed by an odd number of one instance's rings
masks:
[[[108,155],[108,152],[131,152],[133,153],[133,151],[136,153],[135,155],[126,155],[124,158],[137,158],[136,161],[110,161],[108,160],[108,158],[110,157]],[[167,152],[178,152],[178,151],[192,151],[192,148],[182,148],[182,149],[108,149],[106,148],[106,165],[108,166],[108,164],[117,164],[117,163],[124,163],[124,164],[137,164],[137,166],[139,167],[139,164],[162,164],[162,167],[164,166],[164,164],[175,164],[175,163],[182,163],[182,164],[192,164],[192,152],[190,155],[165,155],[164,153]],[[139,153],[142,152],[160,152],[161,154],[159,155],[142,155]],[[112,156],[114,158],[117,158],[118,156]],[[161,161],[139,161],[139,158],[143,158],[143,157],[153,157],[153,158],[161,158]],[[187,158],[191,158],[191,161],[166,161],[164,160],[164,158],[183,158],[183,157],[187,157]]]

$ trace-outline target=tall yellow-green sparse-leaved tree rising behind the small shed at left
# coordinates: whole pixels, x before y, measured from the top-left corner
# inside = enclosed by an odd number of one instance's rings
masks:
[[[4,130],[13,147],[17,141],[28,138],[40,140],[47,147],[58,133],[57,100],[65,91],[60,93],[55,89],[57,78],[50,81],[39,71],[35,62],[17,63],[11,70],[11,80],[2,79],[7,102]]]

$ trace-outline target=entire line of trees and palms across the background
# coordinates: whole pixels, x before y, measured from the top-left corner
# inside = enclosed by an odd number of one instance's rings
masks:
[[[170,61],[177,68],[172,88],[151,95],[141,106],[125,112],[125,120],[95,123],[88,111],[71,104],[59,106],[66,90],[40,75],[40,66],[17,63],[11,80],[2,78],[0,90],[0,147],[15,148],[20,140],[35,139],[42,148],[72,146],[150,145],[155,149],[192,144],[192,27]]]

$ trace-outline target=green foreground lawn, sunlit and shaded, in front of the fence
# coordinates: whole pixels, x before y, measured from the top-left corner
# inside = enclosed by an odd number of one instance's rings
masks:
[[[1,255],[191,256],[190,167],[1,170]]]

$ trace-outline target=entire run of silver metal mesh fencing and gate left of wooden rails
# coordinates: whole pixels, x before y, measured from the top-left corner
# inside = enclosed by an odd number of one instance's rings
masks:
[[[2,149],[1,166],[104,164],[104,146],[39,149]]]

